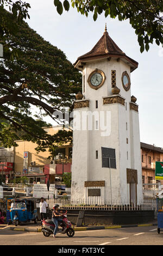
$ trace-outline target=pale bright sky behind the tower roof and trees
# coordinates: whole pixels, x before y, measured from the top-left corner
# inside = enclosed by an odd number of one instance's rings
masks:
[[[163,48],[155,44],[149,51],[140,52],[137,36],[129,21],[118,21],[101,14],[93,21],[77,12],[76,8],[57,13],[53,0],[28,0],[28,25],[45,40],[62,50],[72,63],[89,52],[101,38],[107,24],[108,33],[127,56],[139,62],[131,73],[131,95],[139,105],[140,140],[163,148]],[[52,120],[46,119],[52,123]]]

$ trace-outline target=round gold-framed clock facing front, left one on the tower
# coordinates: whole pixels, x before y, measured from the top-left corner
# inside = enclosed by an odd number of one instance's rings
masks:
[[[105,82],[105,78],[105,74],[102,70],[95,69],[89,75],[87,82],[92,89],[97,90],[98,88],[102,87]]]

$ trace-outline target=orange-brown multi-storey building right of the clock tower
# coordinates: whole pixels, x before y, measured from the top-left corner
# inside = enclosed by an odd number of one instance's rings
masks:
[[[142,183],[154,184],[160,182],[155,180],[155,162],[163,162],[163,149],[141,142]],[[162,183],[162,181],[161,181]]]

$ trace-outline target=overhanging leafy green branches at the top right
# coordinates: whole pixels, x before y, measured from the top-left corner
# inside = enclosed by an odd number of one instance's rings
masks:
[[[61,15],[63,6],[66,11],[70,9],[70,1],[54,0],[58,13]],[[157,45],[163,44],[163,1],[162,0],[71,0],[72,7],[78,13],[88,16],[93,13],[93,20],[105,13],[105,17],[112,19],[118,17],[119,21],[129,20],[135,29],[140,51],[149,50],[149,44],[155,40]]]

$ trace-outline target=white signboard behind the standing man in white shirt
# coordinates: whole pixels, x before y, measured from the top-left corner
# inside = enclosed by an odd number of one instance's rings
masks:
[[[49,187],[49,199],[54,198],[55,184],[51,184]],[[48,190],[46,184],[34,184],[33,197],[35,198],[48,198]]]

